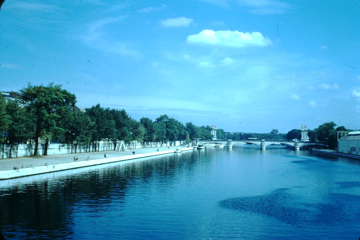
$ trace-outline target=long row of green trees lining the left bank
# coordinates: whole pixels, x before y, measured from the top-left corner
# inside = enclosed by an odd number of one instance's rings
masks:
[[[126,143],[143,141],[190,142],[193,138],[211,139],[210,126],[185,125],[175,118],[162,115],[155,121],[129,117],[124,109],[103,108],[99,104],[76,111],[76,96],[61,85],[32,86],[20,90],[15,101],[0,99],[0,133],[4,144],[18,144],[30,139],[35,141],[34,155],[38,154],[39,141],[44,139],[44,155],[50,139],[62,138],[63,143],[89,143],[102,139],[124,140]],[[224,130],[218,136],[225,137]],[[11,148],[10,148],[11,149]],[[96,151],[96,144],[95,149]]]

